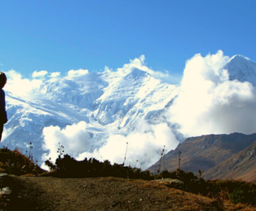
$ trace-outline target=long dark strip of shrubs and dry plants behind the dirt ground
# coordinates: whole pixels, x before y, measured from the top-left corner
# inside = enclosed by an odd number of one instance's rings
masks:
[[[32,149],[32,144],[31,147]],[[247,183],[242,180],[203,180],[202,174],[198,176],[191,172],[177,169],[176,171],[162,171],[160,174],[152,175],[149,171],[142,171],[141,168],[131,168],[124,165],[105,160],[100,162],[97,159],[77,161],[68,154],[62,155],[63,147],[60,147],[59,158],[53,163],[48,159],[45,164],[50,167],[51,172],[45,174],[36,162],[32,159],[31,150],[29,155],[24,156],[20,150],[9,150],[7,147],[0,149],[0,171],[15,175],[38,175],[52,177],[122,177],[127,179],[159,180],[170,178],[182,181],[182,186],[173,184],[172,187],[195,195],[203,195],[215,199],[218,207],[223,201],[230,201],[233,204],[251,204],[256,206],[256,184]],[[202,173],[202,172],[201,172]]]

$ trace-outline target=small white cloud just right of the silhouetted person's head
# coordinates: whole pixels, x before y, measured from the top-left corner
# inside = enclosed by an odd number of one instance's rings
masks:
[[[32,91],[36,93],[35,90],[38,90],[43,85],[41,79],[23,79],[20,73],[17,73],[15,70],[9,70],[6,75],[8,81],[5,85],[5,90],[18,96],[29,94]]]

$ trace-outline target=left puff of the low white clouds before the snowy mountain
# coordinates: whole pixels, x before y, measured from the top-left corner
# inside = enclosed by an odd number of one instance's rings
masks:
[[[64,153],[71,156],[78,156],[79,153],[89,150],[90,135],[86,132],[86,128],[87,124],[84,121],[66,126],[64,129],[60,129],[59,126],[45,127],[43,129],[43,147],[45,150],[49,150],[49,153],[44,154],[44,159],[49,157],[53,160],[57,159],[59,143],[65,147]]]

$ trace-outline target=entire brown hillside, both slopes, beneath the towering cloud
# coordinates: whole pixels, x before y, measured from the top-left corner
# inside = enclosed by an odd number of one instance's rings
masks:
[[[202,135],[186,138],[182,144],[161,159],[161,171],[204,171],[205,179],[256,179],[256,133],[244,135]],[[160,160],[148,170],[157,173]]]

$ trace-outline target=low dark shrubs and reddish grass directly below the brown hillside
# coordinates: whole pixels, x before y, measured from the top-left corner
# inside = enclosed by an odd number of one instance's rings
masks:
[[[233,204],[256,205],[256,184],[242,180],[203,180],[201,175],[195,176],[192,172],[177,169],[169,172],[163,171],[158,178],[172,178],[184,183],[182,189],[196,195],[203,195],[218,200],[230,200]]]

